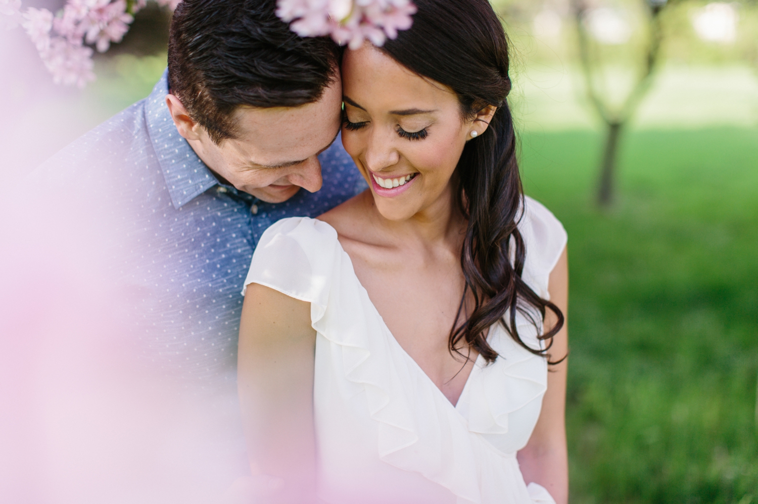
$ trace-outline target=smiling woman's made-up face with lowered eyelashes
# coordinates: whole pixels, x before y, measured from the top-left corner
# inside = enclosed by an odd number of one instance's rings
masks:
[[[371,45],[343,59],[343,145],[391,220],[449,206],[468,129],[455,93]]]

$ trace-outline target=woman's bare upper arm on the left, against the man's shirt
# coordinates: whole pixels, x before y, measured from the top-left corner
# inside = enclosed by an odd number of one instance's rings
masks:
[[[276,478],[265,502],[315,502],[310,303],[258,284],[247,287],[237,380],[253,474]]]

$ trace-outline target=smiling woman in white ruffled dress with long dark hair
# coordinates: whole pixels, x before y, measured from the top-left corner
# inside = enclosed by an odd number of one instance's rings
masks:
[[[522,196],[489,2],[415,4],[410,30],[343,58],[370,188],[255,250],[253,471],[270,502],[565,503],[565,232]]]

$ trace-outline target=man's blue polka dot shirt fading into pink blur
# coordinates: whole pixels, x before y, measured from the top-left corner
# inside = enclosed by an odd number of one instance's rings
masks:
[[[164,73],[148,98],[42,170],[48,184],[94,180],[107,192],[108,226],[121,240],[114,274],[134,293],[129,318],[143,355],[164,375],[214,393],[236,384],[240,292],[262,233],[284,217],[318,216],[367,185],[339,138],[319,156],[318,192],[301,188],[268,204],[223,185],[178,134],[167,94]]]

